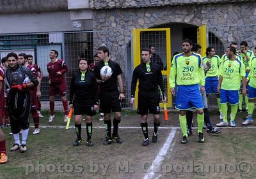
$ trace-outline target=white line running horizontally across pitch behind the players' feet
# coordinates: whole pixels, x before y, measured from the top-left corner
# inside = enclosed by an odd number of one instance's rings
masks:
[[[31,128],[34,128],[34,126],[30,126]],[[66,128],[65,125],[41,125],[40,128]],[[70,126],[70,129],[75,128],[74,126]],[[85,126],[82,126],[82,128],[86,128]],[[93,129],[105,129],[104,126],[93,126]],[[113,127],[112,127],[113,128]],[[135,127],[135,126],[120,126],[119,129],[141,129],[141,127]],[[256,126],[237,126],[237,127],[218,127],[219,129],[256,129]],[[154,129],[154,127],[148,127],[148,129]],[[159,127],[159,129],[180,129],[180,127]],[[197,127],[192,127],[192,129],[197,129]]]

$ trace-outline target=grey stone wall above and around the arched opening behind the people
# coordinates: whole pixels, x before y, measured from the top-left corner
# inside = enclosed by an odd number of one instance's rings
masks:
[[[111,57],[124,65],[126,45],[131,40],[133,28],[173,22],[206,24],[223,45],[241,40],[248,41],[250,47],[256,45],[256,25],[252,25],[256,24],[256,3],[93,10],[93,31],[105,31],[94,34],[93,43],[95,46],[106,43],[111,49]]]

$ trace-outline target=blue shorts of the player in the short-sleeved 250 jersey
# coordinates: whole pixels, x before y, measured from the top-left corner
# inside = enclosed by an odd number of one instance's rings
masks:
[[[220,89],[220,103],[238,104],[239,90],[223,90]]]

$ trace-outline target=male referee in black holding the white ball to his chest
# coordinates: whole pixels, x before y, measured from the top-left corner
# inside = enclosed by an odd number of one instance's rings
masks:
[[[104,113],[104,124],[107,132],[107,138],[104,141],[104,145],[111,144],[113,139],[116,140],[117,143],[122,143],[122,140],[118,135],[118,124],[121,120],[120,100],[125,97],[121,78],[122,69],[116,62],[110,60],[108,47],[102,46],[97,50],[100,62],[95,66],[94,71],[97,82],[100,83],[100,109],[102,113]],[[112,69],[113,73],[110,78],[102,78],[100,76],[100,69],[104,66],[109,66]],[[117,85],[119,86],[119,91]],[[110,118],[111,111],[115,113],[112,136]]]

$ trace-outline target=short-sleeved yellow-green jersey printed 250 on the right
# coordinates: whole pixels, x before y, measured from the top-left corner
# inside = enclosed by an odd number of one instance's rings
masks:
[[[245,76],[243,62],[225,60],[220,66],[220,75],[223,77],[221,89],[239,90],[241,87],[241,77]]]

